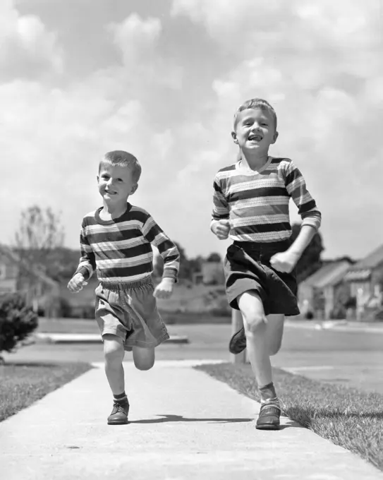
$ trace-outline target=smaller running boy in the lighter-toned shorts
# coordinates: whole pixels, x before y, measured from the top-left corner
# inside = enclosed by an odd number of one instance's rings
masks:
[[[95,316],[104,344],[105,373],[114,406],[109,425],[128,423],[123,357],[133,351],[139,370],[154,365],[154,348],[169,339],[156,297],[173,292],[179,268],[176,245],[143,208],[128,203],[138,188],[141,166],[128,152],[115,150],[99,162],[97,176],[103,206],[83,218],[81,258],[68,289],[79,292],[97,272]],[[153,251],[164,259],[162,281],[152,284]]]

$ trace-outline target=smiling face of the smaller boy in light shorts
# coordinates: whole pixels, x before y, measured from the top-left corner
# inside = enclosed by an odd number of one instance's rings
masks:
[[[104,201],[113,204],[126,203],[128,196],[133,195],[138,187],[128,167],[119,167],[107,162],[101,164],[97,182]]]

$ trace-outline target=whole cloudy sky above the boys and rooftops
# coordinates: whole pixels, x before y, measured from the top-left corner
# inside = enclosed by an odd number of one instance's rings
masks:
[[[223,253],[212,179],[236,157],[234,111],[264,97],[324,258],[365,256],[383,243],[382,22],[379,0],[1,0],[0,242],[37,204],[77,248],[99,158],[123,149],[142,164],[132,203],[188,256]]]

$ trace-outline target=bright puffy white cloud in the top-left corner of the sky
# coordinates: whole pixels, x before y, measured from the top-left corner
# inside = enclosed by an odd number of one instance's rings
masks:
[[[41,78],[63,71],[56,34],[34,15],[20,16],[12,0],[0,4],[0,78]]]

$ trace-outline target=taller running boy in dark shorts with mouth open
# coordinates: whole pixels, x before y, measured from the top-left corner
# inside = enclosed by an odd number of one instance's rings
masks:
[[[214,178],[210,228],[219,239],[233,240],[224,260],[226,295],[241,311],[243,328],[229,350],[245,347],[261,397],[257,428],[279,428],[281,407],[272,381],[270,355],[281,347],[284,317],[298,315],[295,267],[320,227],[321,214],[302,174],[288,158],[269,156],[278,137],[276,114],[262,99],[244,102],[234,116],[238,161]],[[290,198],[302,225],[291,241]]]

